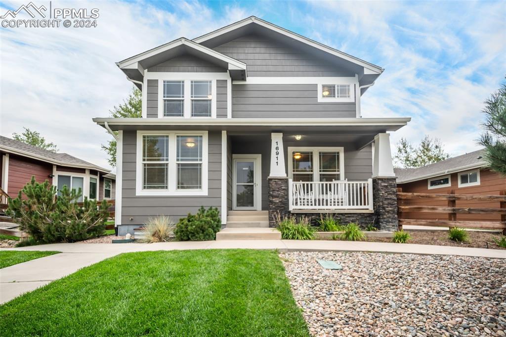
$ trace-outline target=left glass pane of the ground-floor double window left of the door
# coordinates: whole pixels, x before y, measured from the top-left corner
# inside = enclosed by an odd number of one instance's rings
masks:
[[[168,188],[168,136],[142,137],[143,189]]]

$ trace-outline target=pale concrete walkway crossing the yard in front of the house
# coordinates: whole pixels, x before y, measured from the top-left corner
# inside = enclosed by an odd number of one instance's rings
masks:
[[[0,304],[77,270],[123,252],[183,249],[279,249],[280,251],[370,251],[506,259],[506,250],[409,243],[319,240],[223,240],[164,243],[55,243],[5,250],[56,250],[56,254],[0,269]],[[1,251],[1,250],[0,250]]]

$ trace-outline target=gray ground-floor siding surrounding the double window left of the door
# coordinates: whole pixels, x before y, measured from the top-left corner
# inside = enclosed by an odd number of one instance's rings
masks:
[[[170,216],[177,222],[188,213],[196,213],[200,206],[218,207],[221,211],[220,132],[209,132],[207,196],[136,196],[136,142],[137,132],[123,132],[122,225],[141,225],[157,215]]]

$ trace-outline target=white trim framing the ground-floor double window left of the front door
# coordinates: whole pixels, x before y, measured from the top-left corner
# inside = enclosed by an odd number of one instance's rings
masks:
[[[143,189],[142,188],[142,136],[168,136],[168,189]],[[177,165],[176,165],[176,136],[202,136],[202,188],[178,190],[177,188]],[[207,131],[137,131],[136,146],[136,195],[207,195],[208,185],[208,141]]]

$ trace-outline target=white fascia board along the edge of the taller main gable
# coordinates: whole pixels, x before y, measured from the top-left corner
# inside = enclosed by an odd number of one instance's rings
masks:
[[[326,53],[329,53],[331,55],[334,55],[334,56],[337,56],[339,58],[342,58],[344,60],[347,60],[347,61],[350,61],[352,63],[355,63],[355,64],[358,64],[362,67],[364,67],[364,70],[365,69],[368,69],[369,71],[371,71],[372,74],[381,74],[385,69],[383,69],[382,67],[379,67],[377,65],[374,65],[372,63],[369,63],[369,62],[366,62],[364,60],[361,60],[359,58],[356,58],[354,56],[351,56],[351,55],[348,55],[344,52],[341,52],[339,50],[336,50],[336,49],[333,49],[331,47],[328,47],[328,46],[325,46],[323,44],[320,44],[319,42],[316,42],[310,38],[307,38],[305,36],[302,36],[302,35],[299,35],[297,33],[294,33],[292,31],[289,31],[287,29],[284,29],[284,28],[281,28],[279,26],[276,26],[270,22],[267,22],[267,21],[264,21],[262,19],[259,19],[257,17],[249,17],[249,18],[246,18],[244,20],[241,20],[241,21],[238,21],[236,23],[233,23],[231,25],[228,25],[226,27],[223,27],[221,29],[218,29],[218,30],[215,30],[213,32],[210,32],[208,34],[205,34],[205,35],[202,35],[202,36],[199,36],[197,38],[194,38],[193,41],[200,44],[208,39],[211,39],[211,38],[214,38],[216,36],[219,36],[219,35],[222,35],[222,34],[225,34],[229,31],[232,31],[234,29],[237,29],[237,28],[240,28],[242,26],[245,26],[247,24],[250,24],[250,23],[256,23],[258,25],[261,25],[265,28],[268,28],[268,29],[271,29],[277,33],[280,33],[282,35],[285,35],[289,38],[292,38],[294,40],[297,40],[297,41],[300,41],[302,43],[305,43],[306,45],[309,45],[311,47],[314,47],[316,49],[319,49],[321,51],[324,51]]]

